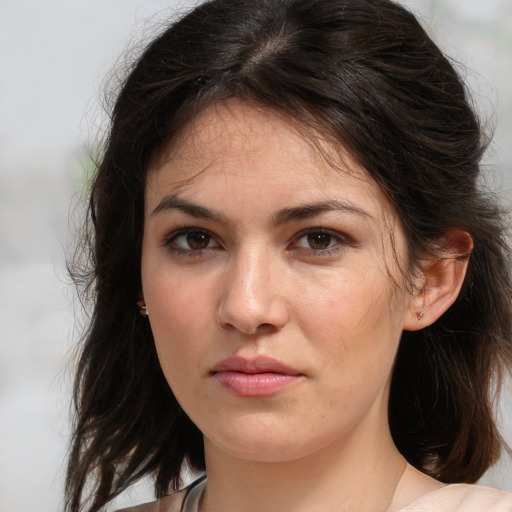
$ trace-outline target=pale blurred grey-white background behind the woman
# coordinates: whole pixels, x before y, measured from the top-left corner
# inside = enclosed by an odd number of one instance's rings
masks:
[[[512,206],[512,2],[402,0],[467,68],[495,125],[489,186]],[[190,1],[0,0],[0,512],[62,509],[79,311],[66,256],[116,60]],[[79,217],[79,215],[78,215]],[[512,443],[512,385],[498,411]],[[512,491],[504,458],[482,480]],[[115,506],[151,499],[147,483]]]

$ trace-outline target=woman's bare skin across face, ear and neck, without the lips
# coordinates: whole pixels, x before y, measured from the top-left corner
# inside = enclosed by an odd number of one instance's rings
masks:
[[[464,269],[427,262],[406,280],[395,212],[339,154],[333,169],[293,123],[230,100],[149,170],[143,296],[165,377],[204,434],[205,512],[392,511],[440,485],[404,474],[389,383],[402,331],[435,321]],[[237,396],[212,373],[235,355],[298,377]]]

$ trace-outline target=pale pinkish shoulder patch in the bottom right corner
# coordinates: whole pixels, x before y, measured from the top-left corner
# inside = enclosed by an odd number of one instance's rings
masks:
[[[512,494],[469,484],[452,484],[404,507],[402,512],[512,512]]]

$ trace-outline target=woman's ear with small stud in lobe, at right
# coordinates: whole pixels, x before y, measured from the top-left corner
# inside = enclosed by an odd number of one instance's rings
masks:
[[[433,324],[459,295],[473,239],[466,231],[453,230],[439,245],[440,255],[427,255],[418,265],[414,291],[404,318],[405,331],[417,331]]]

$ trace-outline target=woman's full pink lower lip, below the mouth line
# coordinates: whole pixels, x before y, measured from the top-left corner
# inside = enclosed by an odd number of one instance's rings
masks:
[[[217,381],[228,391],[241,397],[264,397],[274,395],[295,384],[300,375],[284,373],[217,372]]]

